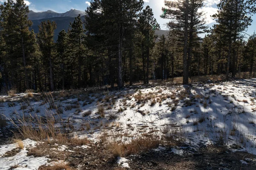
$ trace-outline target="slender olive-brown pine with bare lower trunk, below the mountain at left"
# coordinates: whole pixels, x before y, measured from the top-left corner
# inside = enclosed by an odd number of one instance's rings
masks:
[[[51,22],[47,20],[47,21],[43,21],[38,27],[39,27],[39,31],[37,34],[38,44],[44,59],[49,62],[50,90],[54,91],[52,52],[54,50],[54,40],[53,40],[54,30],[57,28],[57,25],[55,22]]]

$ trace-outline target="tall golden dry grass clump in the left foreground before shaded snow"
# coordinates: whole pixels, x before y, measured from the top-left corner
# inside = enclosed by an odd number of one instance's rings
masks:
[[[52,105],[52,109],[55,110],[45,110],[44,113],[40,113],[39,110],[38,114],[24,112],[22,115],[9,120],[25,139],[29,138],[35,141],[47,141],[58,144],[66,143],[68,140],[67,131],[63,127],[68,128],[68,122],[61,119],[58,107],[55,105],[50,94],[45,94],[44,104]],[[57,123],[59,126],[56,126]]]

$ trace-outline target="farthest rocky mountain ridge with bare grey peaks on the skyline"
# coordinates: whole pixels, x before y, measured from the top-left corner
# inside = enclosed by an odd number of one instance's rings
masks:
[[[79,11],[76,9],[71,9],[70,11],[67,11],[65,13],[57,13],[51,10],[48,10],[45,12],[29,11],[28,17],[29,17],[29,20],[41,20],[41,19],[48,19],[48,18],[54,18],[54,17],[77,17],[79,14],[83,16],[85,15],[85,12]]]

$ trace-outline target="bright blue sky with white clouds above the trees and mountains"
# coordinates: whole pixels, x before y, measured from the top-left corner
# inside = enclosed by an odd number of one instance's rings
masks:
[[[0,0],[4,2],[5,0]],[[38,11],[47,11],[52,10],[59,13],[64,13],[70,9],[78,9],[84,11],[88,5],[90,5],[90,0],[24,0],[29,9],[35,12]],[[214,24],[214,20],[210,15],[217,12],[217,4],[220,0],[205,0],[205,6],[202,8],[206,13],[207,25],[210,27]],[[144,6],[150,6],[153,9],[154,16],[157,19],[157,22],[160,24],[161,29],[166,29],[164,26],[168,20],[161,19],[160,15],[162,14],[162,7],[164,6],[164,0],[144,0]],[[247,34],[253,34],[256,29],[256,15],[253,16],[254,22],[247,30]]]

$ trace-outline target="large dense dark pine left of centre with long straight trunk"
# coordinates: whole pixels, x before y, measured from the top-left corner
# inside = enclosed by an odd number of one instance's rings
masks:
[[[87,8],[85,28],[116,51],[118,60],[118,87],[123,87],[122,55],[127,28],[134,27],[143,0],[93,0]],[[108,49],[110,50],[110,49]],[[111,53],[109,53],[111,54]]]

